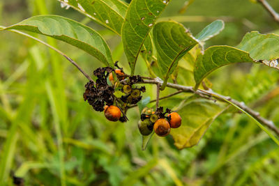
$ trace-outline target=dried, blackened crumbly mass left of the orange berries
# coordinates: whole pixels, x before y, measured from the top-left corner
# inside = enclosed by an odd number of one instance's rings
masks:
[[[107,84],[107,77],[113,70],[110,67],[97,68],[93,72],[98,77],[96,86],[94,82],[88,82],[85,85],[84,101],[87,100],[96,111],[103,111],[105,104],[110,106],[114,103],[114,88]]]

